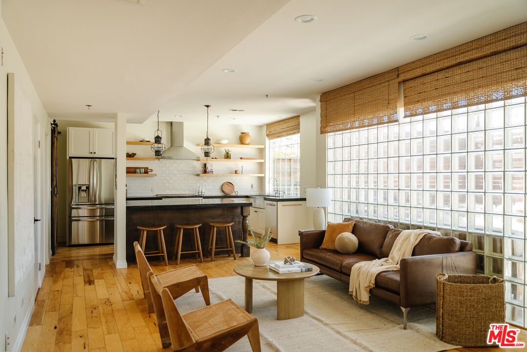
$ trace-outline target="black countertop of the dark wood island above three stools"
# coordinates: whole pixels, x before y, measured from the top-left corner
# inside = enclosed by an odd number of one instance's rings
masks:
[[[126,210],[131,209],[188,209],[188,208],[222,208],[250,207],[251,202],[236,199],[149,199],[128,200]]]

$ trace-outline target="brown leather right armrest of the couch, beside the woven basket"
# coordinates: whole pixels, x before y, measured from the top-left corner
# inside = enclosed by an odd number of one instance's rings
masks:
[[[455,252],[429,256],[407,257],[401,260],[401,307],[416,307],[435,303],[437,273],[475,275],[476,253]]]

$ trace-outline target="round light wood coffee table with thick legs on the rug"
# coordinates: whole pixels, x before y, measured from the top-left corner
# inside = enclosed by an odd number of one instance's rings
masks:
[[[245,277],[245,310],[252,311],[252,280],[276,281],[277,319],[285,320],[304,315],[304,279],[317,275],[317,266],[306,263],[313,271],[279,274],[267,266],[257,267],[253,263],[243,263],[234,271]]]

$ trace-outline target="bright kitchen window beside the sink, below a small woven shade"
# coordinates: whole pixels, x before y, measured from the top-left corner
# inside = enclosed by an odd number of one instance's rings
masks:
[[[286,195],[300,195],[300,134],[270,140],[269,150],[271,175],[278,180],[278,190]],[[269,191],[274,191],[275,183],[270,187]]]

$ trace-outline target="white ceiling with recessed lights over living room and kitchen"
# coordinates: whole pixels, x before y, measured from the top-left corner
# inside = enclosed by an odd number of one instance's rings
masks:
[[[294,21],[303,14],[318,20]],[[314,110],[325,91],[527,21],[527,2],[3,0],[2,15],[54,118],[126,112],[141,122],[160,109],[165,121],[201,121],[211,104],[225,123],[264,124]],[[421,33],[430,38],[409,40]]]

